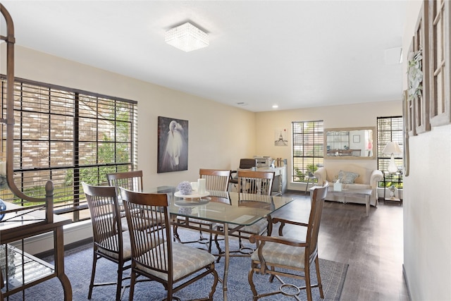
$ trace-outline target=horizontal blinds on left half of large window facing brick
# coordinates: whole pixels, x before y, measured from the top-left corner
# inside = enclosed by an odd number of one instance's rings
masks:
[[[14,182],[26,195],[39,198],[45,197],[47,180],[59,184],[55,209],[73,198],[73,189],[64,185],[73,166],[73,103],[73,95],[65,91],[20,81],[14,85]]]

